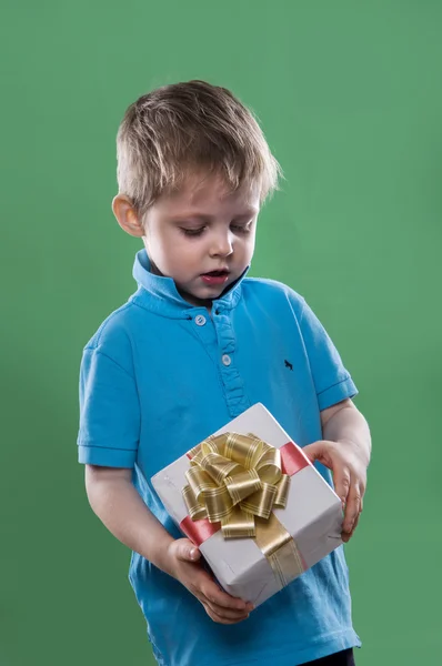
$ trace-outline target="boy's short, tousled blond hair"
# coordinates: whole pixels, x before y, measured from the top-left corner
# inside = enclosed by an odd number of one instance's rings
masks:
[[[158,88],[127,110],[117,135],[117,179],[139,214],[190,172],[221,174],[232,191],[261,181],[261,203],[281,168],[252,111],[204,81]]]

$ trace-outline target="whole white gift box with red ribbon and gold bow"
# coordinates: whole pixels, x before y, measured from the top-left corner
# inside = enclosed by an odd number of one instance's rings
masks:
[[[340,498],[260,403],[151,481],[220,585],[254,606],[342,543]]]

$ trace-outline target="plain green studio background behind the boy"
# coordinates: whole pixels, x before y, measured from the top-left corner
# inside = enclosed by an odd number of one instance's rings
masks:
[[[153,664],[129,552],[77,463],[83,344],[134,291],[111,213],[129,103],[192,78],[260,119],[287,180],[253,275],[322,320],[374,456],[346,548],[359,666],[441,663],[442,4],[3,6],[0,665]],[[7,20],[4,20],[7,19]]]

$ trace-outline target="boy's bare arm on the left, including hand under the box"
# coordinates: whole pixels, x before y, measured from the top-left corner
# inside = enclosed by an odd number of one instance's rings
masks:
[[[221,624],[248,617],[252,606],[227,594],[200,563],[188,538],[174,539],[149,511],[132,484],[132,470],[86,465],[89,503],[106,527],[124,545],[173,576]]]

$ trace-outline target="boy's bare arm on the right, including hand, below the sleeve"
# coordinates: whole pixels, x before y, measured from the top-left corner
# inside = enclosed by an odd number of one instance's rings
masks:
[[[356,528],[366,486],[371,455],[369,425],[350,398],[321,411],[323,440],[304,446],[314,462],[333,472],[334,488],[344,507],[342,539],[348,542]]]

